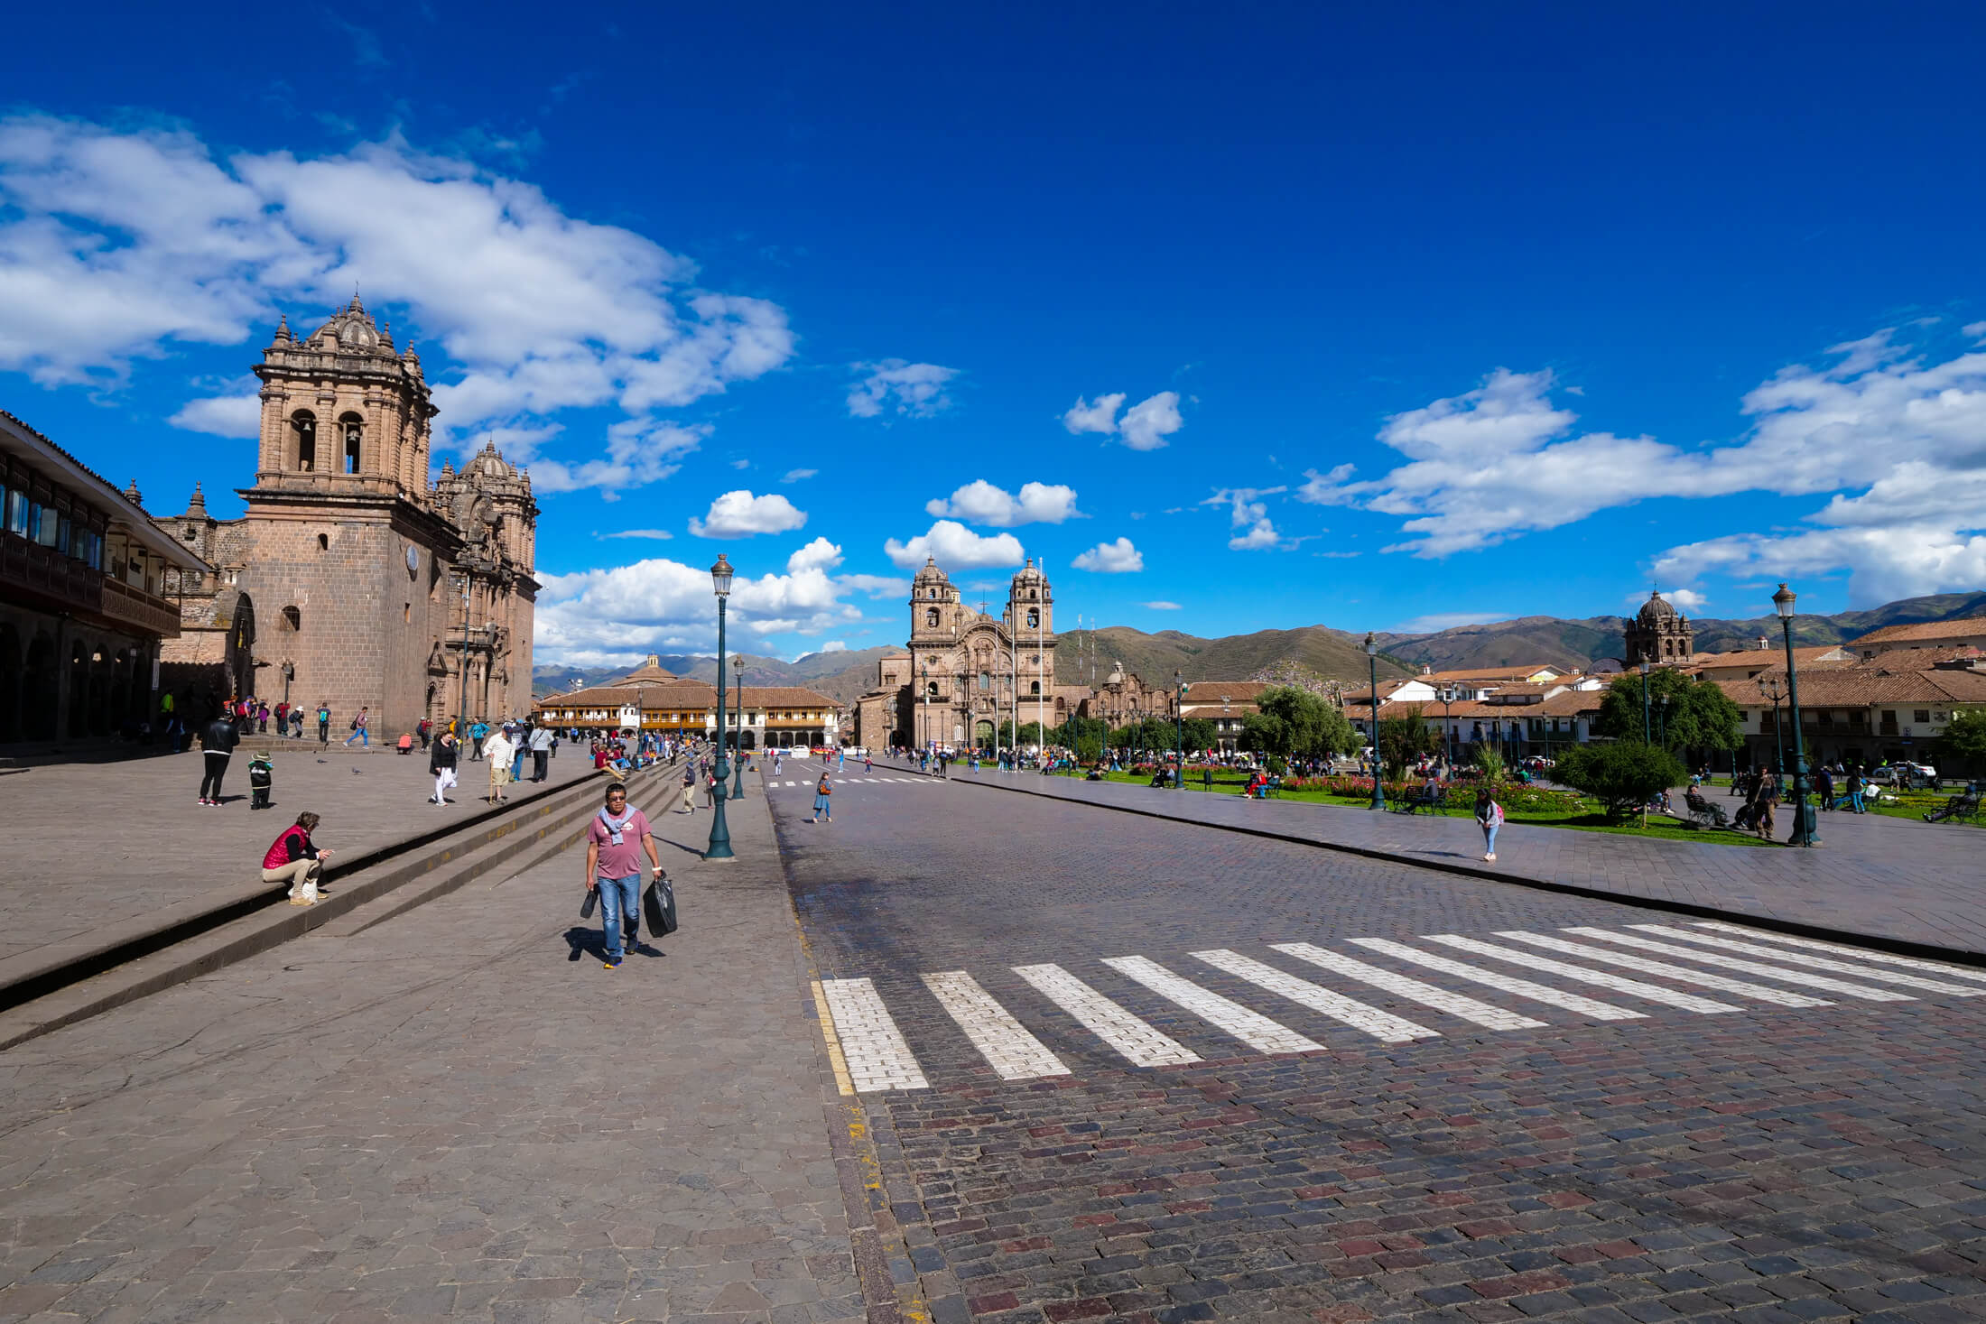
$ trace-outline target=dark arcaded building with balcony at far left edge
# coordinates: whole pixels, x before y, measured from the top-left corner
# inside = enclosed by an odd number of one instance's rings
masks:
[[[0,744],[105,736],[159,715],[169,582],[199,552],[73,455],[0,413]]]

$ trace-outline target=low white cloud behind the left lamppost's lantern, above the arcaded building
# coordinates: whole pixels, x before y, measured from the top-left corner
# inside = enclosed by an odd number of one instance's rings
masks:
[[[731,621],[757,635],[822,633],[860,621],[840,588],[818,566],[790,574],[733,580]],[[671,560],[641,560],[612,570],[544,576],[538,590],[540,661],[622,659],[645,651],[709,651],[717,641],[711,572]]]

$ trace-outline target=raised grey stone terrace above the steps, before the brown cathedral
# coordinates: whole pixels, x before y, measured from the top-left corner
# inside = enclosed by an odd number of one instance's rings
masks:
[[[570,746],[546,766],[562,784],[594,770]],[[375,748],[320,750],[274,760],[268,810],[248,808],[248,758],[228,768],[224,804],[201,808],[201,752],[113,764],[38,764],[0,776],[0,959],[75,937],[107,919],[187,901],[232,881],[254,881],[262,854],[304,810],[324,818],[318,844],[340,856],[385,846],[487,808],[489,764],[465,764],[447,808],[427,804],[427,754]],[[528,764],[526,764],[528,776]],[[528,780],[510,794],[542,790]],[[105,826],[109,826],[105,830]],[[87,867],[77,869],[77,840]]]

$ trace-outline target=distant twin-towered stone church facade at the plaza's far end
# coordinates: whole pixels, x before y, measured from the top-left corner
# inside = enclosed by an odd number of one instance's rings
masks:
[[[856,701],[854,742],[957,750],[991,746],[1015,717],[1021,727],[1055,727],[1090,697],[1084,687],[1057,687],[1055,645],[1055,590],[1033,560],[993,617],[967,607],[925,558],[910,584],[910,647],[876,663],[876,687]]]

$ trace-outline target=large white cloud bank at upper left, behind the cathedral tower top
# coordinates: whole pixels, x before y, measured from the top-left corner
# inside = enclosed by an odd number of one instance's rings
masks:
[[[399,137],[216,161],[185,131],[14,115],[0,119],[0,369],[42,385],[117,383],[177,345],[242,345],[278,308],[310,333],[310,314],[355,286],[401,320],[401,347],[419,330],[437,425],[457,441],[556,435],[560,411],[602,405],[653,429],[653,409],[792,357],[779,306],[697,292],[695,266],[647,236]],[[238,409],[193,401],[175,421],[238,429]],[[550,490],[673,472],[630,455],[556,470]]]

